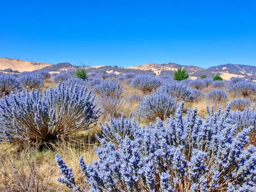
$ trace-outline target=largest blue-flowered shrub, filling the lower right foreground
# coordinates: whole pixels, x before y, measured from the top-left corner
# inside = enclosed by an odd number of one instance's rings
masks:
[[[90,191],[255,191],[256,148],[245,147],[252,127],[236,134],[237,127],[229,123],[230,105],[205,121],[197,116],[197,108],[188,109],[183,117],[183,106],[166,124],[158,118],[149,127],[131,126],[133,138],[116,134],[116,145],[99,139],[101,147],[95,147],[98,160],[93,164],[85,164],[79,157]],[[55,160],[64,176],[58,181],[73,191],[83,191],[72,168],[58,154]]]

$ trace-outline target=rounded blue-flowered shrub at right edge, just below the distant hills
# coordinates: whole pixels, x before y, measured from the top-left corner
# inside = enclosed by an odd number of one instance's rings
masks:
[[[242,97],[253,97],[256,94],[256,85],[246,81],[238,81],[230,85],[229,92]]]

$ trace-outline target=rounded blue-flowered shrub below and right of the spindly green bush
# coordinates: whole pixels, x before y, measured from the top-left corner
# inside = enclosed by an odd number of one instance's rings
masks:
[[[107,97],[121,97],[123,87],[119,82],[103,81],[99,85],[95,85],[93,91],[97,95],[106,95]]]

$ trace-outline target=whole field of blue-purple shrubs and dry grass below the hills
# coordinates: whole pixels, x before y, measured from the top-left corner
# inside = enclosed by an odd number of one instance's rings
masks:
[[[0,74],[0,191],[256,191],[254,82],[74,74]]]

